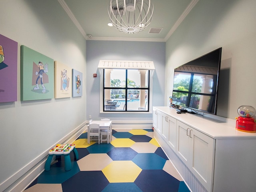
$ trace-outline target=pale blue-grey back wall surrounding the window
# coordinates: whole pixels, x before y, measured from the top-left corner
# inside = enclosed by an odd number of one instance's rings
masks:
[[[87,119],[103,117],[112,120],[152,120],[152,114],[100,114],[100,60],[139,60],[153,61],[155,72],[153,76],[153,106],[164,105],[164,42],[128,42],[128,41],[86,41],[86,91]],[[93,74],[97,73],[97,78]]]

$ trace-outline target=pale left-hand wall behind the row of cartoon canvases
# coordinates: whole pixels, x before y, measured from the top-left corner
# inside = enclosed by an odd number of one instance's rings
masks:
[[[78,98],[20,101],[20,46],[86,74],[86,41],[57,0],[1,0],[0,4],[0,34],[18,42],[18,101],[0,103],[3,191],[86,120],[86,92]],[[84,78],[84,90],[85,84]]]

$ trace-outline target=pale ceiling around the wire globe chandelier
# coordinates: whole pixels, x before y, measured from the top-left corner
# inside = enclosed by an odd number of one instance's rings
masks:
[[[107,24],[110,0],[58,0],[86,40],[127,40],[165,42],[184,20],[198,0],[151,0],[154,14],[151,24],[137,34],[125,34]],[[150,34],[150,28],[163,28]],[[88,34],[92,38],[88,38]]]

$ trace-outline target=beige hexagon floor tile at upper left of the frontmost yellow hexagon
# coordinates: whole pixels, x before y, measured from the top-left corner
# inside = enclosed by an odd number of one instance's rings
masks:
[[[77,161],[80,171],[101,171],[113,160],[106,153],[88,154]]]

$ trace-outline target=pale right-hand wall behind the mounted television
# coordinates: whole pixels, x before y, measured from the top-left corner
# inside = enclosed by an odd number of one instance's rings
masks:
[[[222,47],[217,115],[234,119],[239,106],[256,108],[255,8],[255,0],[198,1],[166,42],[166,104],[174,68]]]

